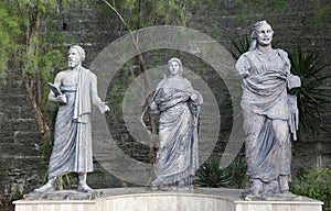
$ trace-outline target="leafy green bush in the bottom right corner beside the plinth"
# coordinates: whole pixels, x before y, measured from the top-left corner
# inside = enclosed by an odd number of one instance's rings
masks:
[[[309,170],[299,170],[300,182],[290,190],[324,202],[323,211],[331,211],[331,169],[313,166]]]

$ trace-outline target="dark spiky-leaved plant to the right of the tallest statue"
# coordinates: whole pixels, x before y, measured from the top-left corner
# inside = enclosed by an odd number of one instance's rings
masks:
[[[298,49],[289,54],[289,59],[291,73],[301,79],[301,87],[290,90],[298,98],[299,127],[305,132],[318,132],[320,108],[331,96],[323,87],[330,74],[323,74],[325,65],[314,52]]]

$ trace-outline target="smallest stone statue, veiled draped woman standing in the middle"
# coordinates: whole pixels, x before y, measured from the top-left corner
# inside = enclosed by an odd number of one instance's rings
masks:
[[[182,77],[179,58],[171,58],[168,68],[169,75],[158,84],[150,109],[160,116],[152,187],[170,190],[191,188],[199,167],[197,121],[203,98]]]

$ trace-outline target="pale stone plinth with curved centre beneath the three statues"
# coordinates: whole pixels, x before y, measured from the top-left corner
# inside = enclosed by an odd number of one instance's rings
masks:
[[[244,201],[242,190],[199,188],[193,191],[105,189],[92,200],[20,200],[15,211],[321,211],[322,202],[298,197],[291,201]],[[56,193],[54,193],[56,195]]]

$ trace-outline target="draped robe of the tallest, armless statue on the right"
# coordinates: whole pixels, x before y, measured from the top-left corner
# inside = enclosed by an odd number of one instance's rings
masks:
[[[289,176],[291,140],[296,138],[296,97],[287,92],[290,62],[281,49],[243,54],[236,68],[243,76],[242,108],[246,134],[247,175],[265,182]]]

